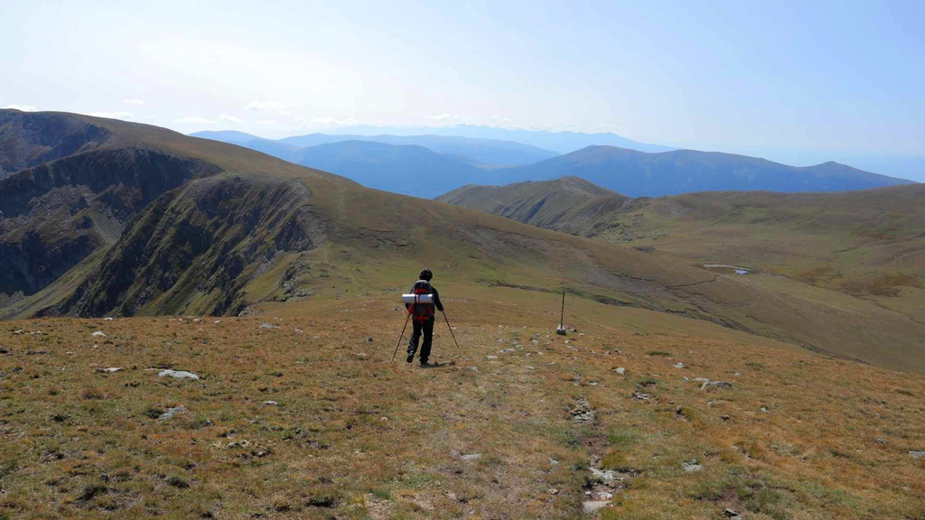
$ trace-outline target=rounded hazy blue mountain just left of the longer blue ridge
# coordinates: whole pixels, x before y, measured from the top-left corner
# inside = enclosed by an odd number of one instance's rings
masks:
[[[369,188],[433,198],[468,183],[494,183],[495,170],[423,146],[343,141],[303,148],[291,159]]]

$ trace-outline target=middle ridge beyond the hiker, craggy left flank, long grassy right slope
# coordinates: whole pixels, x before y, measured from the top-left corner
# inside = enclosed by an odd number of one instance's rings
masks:
[[[261,302],[398,286],[423,264],[465,287],[564,289],[852,358],[871,359],[876,337],[894,355],[884,363],[919,370],[916,335],[925,326],[862,300],[821,298],[812,288],[794,298],[791,286],[757,286],[666,255],[371,190],[240,146],[88,120],[123,146],[203,161],[212,173],[162,193],[114,244],[5,316],[228,316]]]

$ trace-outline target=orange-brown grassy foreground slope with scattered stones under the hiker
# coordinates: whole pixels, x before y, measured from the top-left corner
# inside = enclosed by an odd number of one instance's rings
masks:
[[[435,281],[461,348],[440,324],[435,357],[456,365],[431,370],[388,364],[394,294],[220,323],[8,322],[0,514],[580,518],[591,467],[624,478],[602,518],[925,514],[919,376],[581,299],[560,338],[555,295]],[[166,366],[202,379],[148,370]],[[685,380],[701,377],[733,386]]]

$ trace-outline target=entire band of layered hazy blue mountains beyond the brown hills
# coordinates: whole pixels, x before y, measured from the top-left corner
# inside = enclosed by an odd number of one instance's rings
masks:
[[[455,130],[469,128],[461,126]],[[535,140],[541,135],[556,136],[559,145],[566,137],[573,142],[605,139],[602,136],[627,141],[614,134],[471,128],[479,134],[491,130],[494,135],[507,137],[524,132]],[[569,136],[562,135],[566,133]],[[233,131],[198,132],[193,136],[239,144],[302,166],[331,171],[379,190],[426,198],[467,184],[508,184],[561,177],[589,180],[633,197],[712,191],[845,192],[911,183],[834,162],[791,167],[746,155],[696,150],[648,153],[591,145],[557,155],[521,142],[462,136],[314,133],[278,141]]]

